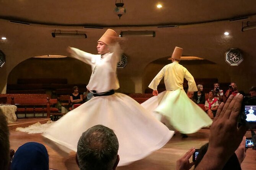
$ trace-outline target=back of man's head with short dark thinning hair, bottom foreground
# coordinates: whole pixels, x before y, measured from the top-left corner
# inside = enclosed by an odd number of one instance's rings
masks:
[[[113,130],[95,125],[86,130],[77,145],[81,170],[114,170],[119,162],[119,143]]]

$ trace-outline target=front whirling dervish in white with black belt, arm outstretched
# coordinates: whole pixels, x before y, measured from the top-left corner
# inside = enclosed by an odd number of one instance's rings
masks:
[[[123,166],[162,148],[174,132],[134,99],[114,93],[119,88],[116,66],[121,50],[119,43],[112,43],[113,37],[117,39],[116,32],[108,29],[98,40],[99,55],[68,48],[74,58],[91,65],[91,78],[86,88],[93,92],[94,97],[54,122],[43,136],[77,151],[83,132],[94,125],[104,125],[113,129],[118,138],[118,166]]]

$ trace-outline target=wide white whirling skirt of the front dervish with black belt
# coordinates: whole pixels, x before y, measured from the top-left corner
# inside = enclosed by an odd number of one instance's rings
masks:
[[[162,148],[174,133],[134,99],[115,93],[92,98],[54,122],[42,135],[76,152],[82,133],[98,124],[113,129],[118,138],[118,166]]]

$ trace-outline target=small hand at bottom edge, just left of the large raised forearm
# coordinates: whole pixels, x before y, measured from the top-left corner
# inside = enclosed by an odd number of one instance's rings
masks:
[[[195,148],[191,148],[184,154],[183,157],[176,161],[176,170],[189,170],[195,163],[189,162],[189,158],[193,155],[196,151]]]

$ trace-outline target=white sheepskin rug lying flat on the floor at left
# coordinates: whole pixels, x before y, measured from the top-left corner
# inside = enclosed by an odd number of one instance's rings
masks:
[[[48,120],[46,123],[41,124],[39,122],[33,124],[33,125],[29,125],[28,127],[25,128],[16,128],[16,132],[17,131],[21,131],[21,132],[27,132],[29,134],[31,133],[43,133],[47,128],[49,128],[52,125],[52,121]]]

